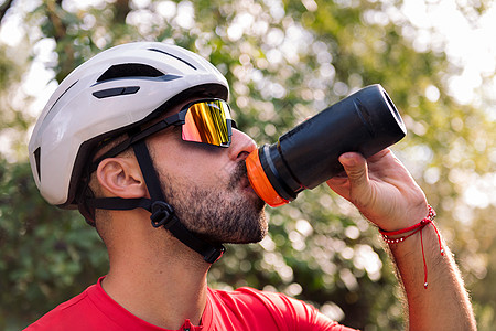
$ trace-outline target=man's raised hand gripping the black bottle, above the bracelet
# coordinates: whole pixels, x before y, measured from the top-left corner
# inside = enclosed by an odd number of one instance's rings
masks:
[[[428,215],[425,195],[389,149],[367,160],[359,153],[347,152],[339,157],[339,162],[346,175],[332,178],[328,186],[380,228],[401,229]]]

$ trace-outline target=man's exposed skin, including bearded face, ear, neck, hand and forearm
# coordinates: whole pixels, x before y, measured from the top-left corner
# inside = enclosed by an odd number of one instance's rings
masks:
[[[180,108],[181,105],[172,111]],[[246,178],[239,174],[242,172],[239,164],[256,150],[256,145],[236,129],[231,140],[229,148],[208,147],[182,141],[181,130],[166,129],[150,137],[147,143],[162,188],[168,199],[174,200],[172,204],[177,215],[190,229],[212,241],[255,242],[267,232],[267,222],[259,197]],[[357,153],[343,154],[339,160],[346,175],[327,183],[354,203],[370,222],[393,231],[425,217],[428,209],[423,192],[389,150],[368,160]],[[104,196],[149,197],[132,153],[105,159],[96,177]],[[170,191],[171,188],[177,189]],[[223,213],[205,216],[205,206],[184,203],[191,202],[192,194],[202,190],[214,192],[215,199],[208,203],[217,201],[215,210]],[[208,199],[208,195],[203,197]],[[255,215],[245,215],[246,227],[252,229],[248,237],[244,236],[246,229],[209,228],[213,223],[229,222],[229,217],[222,215],[233,213],[231,209],[223,210],[226,203],[230,206],[244,203],[242,210]],[[196,212],[191,211],[195,209]],[[176,330],[185,319],[194,324],[201,323],[209,264],[165,229],[153,228],[144,210],[108,211],[105,217],[97,214],[96,222],[110,261],[103,287],[114,300],[134,316],[165,329]],[[472,308],[453,258],[450,254],[439,254],[438,237],[431,226],[424,228],[423,239],[429,261],[428,290],[423,288],[420,236],[391,246],[408,298],[410,329],[475,329]],[[448,252],[445,245],[444,249]],[[165,288],[168,290],[163,290]]]

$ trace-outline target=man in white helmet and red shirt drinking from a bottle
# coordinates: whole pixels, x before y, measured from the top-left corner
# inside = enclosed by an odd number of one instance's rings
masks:
[[[33,175],[50,203],[77,206],[96,226],[110,269],[28,330],[349,330],[282,295],[207,287],[223,243],[258,242],[268,227],[246,175],[256,145],[234,127],[227,96],[213,65],[161,43],[110,49],[64,79],[30,141]],[[328,185],[388,241],[428,216],[389,150],[339,160],[347,175]],[[475,329],[456,266],[440,254],[445,244],[432,225],[420,234],[391,244],[410,328]]]

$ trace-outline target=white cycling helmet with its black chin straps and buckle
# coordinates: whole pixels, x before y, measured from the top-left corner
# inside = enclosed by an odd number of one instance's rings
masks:
[[[138,42],[90,58],[61,83],[34,127],[29,152],[41,194],[60,207],[78,207],[91,225],[95,209],[145,209],[154,227],[166,228],[207,263],[216,261],[225,252],[224,246],[205,242],[187,229],[165,202],[144,142],[154,131],[141,130],[142,124],[198,96],[226,102],[227,81],[209,62],[179,46]],[[87,186],[89,174],[99,162],[93,160],[96,147],[123,132],[129,138],[104,158],[117,154],[122,147],[132,147],[151,199],[94,197]]]

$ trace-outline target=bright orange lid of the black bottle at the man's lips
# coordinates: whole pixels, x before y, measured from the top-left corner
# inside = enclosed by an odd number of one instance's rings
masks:
[[[248,179],[255,193],[260,196],[270,206],[280,206],[287,204],[289,201],[281,197],[278,192],[272,188],[269,179],[267,178],[263,168],[260,163],[260,157],[258,150],[252,151],[246,159],[246,168],[248,171]]]

